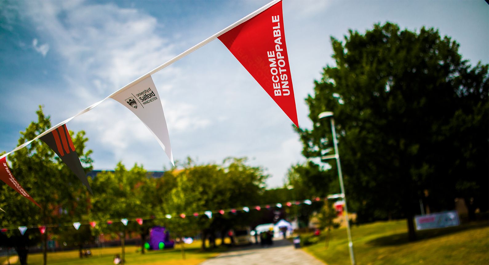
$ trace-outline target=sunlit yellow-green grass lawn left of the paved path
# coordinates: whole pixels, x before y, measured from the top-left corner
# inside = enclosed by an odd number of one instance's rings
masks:
[[[226,249],[226,247],[218,247],[210,251],[200,251],[201,241],[196,241],[191,244],[185,244],[185,260],[182,260],[180,247],[177,245],[175,249],[147,251],[144,255],[136,253],[136,246],[126,246],[126,264],[127,265],[196,265],[205,259],[211,258],[219,254],[219,252]],[[100,250],[102,255],[100,256]],[[113,265],[113,258],[115,254],[121,253],[121,247],[107,247],[107,248],[92,248],[92,257],[79,258],[78,250],[63,251],[63,252],[48,252],[47,264],[48,265]],[[29,254],[27,257],[27,264],[29,265],[42,265],[43,254]],[[6,258],[0,259],[0,265],[6,261]],[[19,262],[13,264],[20,264]]]

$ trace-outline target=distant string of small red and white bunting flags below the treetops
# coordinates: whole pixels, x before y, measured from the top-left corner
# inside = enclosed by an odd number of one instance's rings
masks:
[[[310,200],[310,199],[295,200],[295,201],[288,201],[284,204],[288,207],[291,207],[292,205],[299,205],[302,203],[311,205],[313,201],[321,201],[321,200],[328,200],[328,199],[339,199],[339,198],[344,198],[344,197],[345,197],[344,194],[332,194],[332,195],[328,195],[325,198],[315,197],[312,200]],[[282,208],[284,206],[284,204],[282,204],[282,203],[271,203],[271,204],[263,204],[263,205],[254,205],[254,206],[249,206],[249,207],[244,206],[244,207],[227,208],[227,209],[221,209],[221,210],[200,211],[200,212],[194,212],[194,213],[180,213],[180,214],[166,214],[164,216],[154,216],[153,215],[153,216],[144,216],[144,217],[135,217],[135,218],[134,217],[133,218],[122,218],[122,219],[120,219],[120,222],[122,222],[124,225],[127,225],[129,223],[129,221],[137,221],[137,223],[139,225],[142,225],[144,220],[158,220],[158,219],[165,219],[165,218],[171,219],[174,217],[183,219],[183,218],[190,217],[190,216],[194,216],[197,218],[201,215],[206,215],[209,219],[211,219],[213,214],[218,214],[218,213],[221,215],[223,215],[224,213],[236,214],[239,211],[244,211],[247,213],[253,209],[260,211],[261,209],[269,209],[272,207]],[[77,222],[52,223],[52,224],[37,224],[37,225],[29,225],[29,227],[27,227],[27,226],[11,226],[11,227],[0,228],[0,232],[4,233],[7,230],[19,229],[21,231],[21,234],[23,235],[28,228],[39,228],[39,231],[41,232],[41,234],[44,234],[44,232],[46,231],[46,228],[48,228],[48,227],[61,227],[61,226],[73,225],[76,228],[76,230],[78,230],[80,228],[80,226],[84,225],[84,224],[89,224],[91,227],[95,227],[97,225],[97,223],[104,223],[104,222],[111,225],[112,223],[118,222],[118,221],[112,221],[112,220],[77,221]]]

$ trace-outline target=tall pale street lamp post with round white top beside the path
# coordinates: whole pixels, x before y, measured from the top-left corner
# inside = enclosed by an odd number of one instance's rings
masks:
[[[321,112],[321,113],[319,113],[318,117],[319,117],[319,119],[330,117],[330,120],[331,120],[331,131],[333,134],[334,155],[322,156],[321,161],[331,159],[331,158],[336,158],[336,165],[338,167],[339,185],[341,187],[341,195],[343,196],[343,200],[345,201],[346,231],[348,234],[348,248],[350,250],[350,261],[352,262],[352,265],[355,265],[355,255],[353,254],[352,233],[350,232],[350,220],[348,219],[348,208],[346,207],[345,187],[343,186],[343,175],[341,174],[341,166],[339,163],[338,141],[336,139],[336,130],[334,129],[333,112],[331,112],[331,111]]]

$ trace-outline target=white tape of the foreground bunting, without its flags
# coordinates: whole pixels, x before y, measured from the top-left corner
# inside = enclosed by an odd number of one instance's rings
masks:
[[[150,75],[156,73],[157,71],[165,68],[166,66],[169,66],[175,62],[177,62],[178,60],[180,60],[181,58],[189,55],[190,53],[194,52],[195,50],[197,50],[198,48],[202,47],[203,45],[205,44],[208,44],[210,42],[212,42],[213,40],[217,39],[219,36],[221,36],[222,34],[228,32],[229,30],[235,28],[236,26],[240,25],[241,23],[243,22],[246,22],[250,19],[252,19],[253,17],[257,16],[258,14],[262,13],[263,11],[267,10],[270,6],[280,2],[281,0],[273,0],[269,3],[267,3],[266,5],[264,5],[263,7],[261,7],[260,9],[256,10],[255,12],[247,15],[246,17],[242,18],[241,20],[237,21],[237,22],[234,22],[233,24],[231,24],[230,26],[224,28],[223,30],[219,31],[218,33],[212,35],[211,37],[205,39],[204,41],[200,42],[199,44],[193,46],[192,48],[180,53],[179,55],[177,55],[176,57],[174,57],[173,59],[171,59],[170,61],[156,67],[155,69],[149,71],[148,73],[146,73],[145,75],[142,75],[141,77],[139,77],[138,79],[134,80],[133,82],[127,84],[126,86],[124,86],[123,88],[120,88],[119,90],[113,92],[111,95],[109,95],[108,97],[104,98],[103,100],[97,102],[97,103],[94,103],[92,105],[90,105],[88,108],[86,108],[85,110],[82,110],[80,111],[78,114],[74,115],[73,117],[71,118],[68,118],[58,124],[56,124],[55,126],[49,128],[49,130],[39,134],[38,136],[36,136],[34,139],[28,141],[28,142],[25,142],[23,143],[22,145],[18,146],[17,148],[15,148],[14,150],[4,154],[4,155],[1,155],[0,156],[0,159],[7,156],[7,155],[10,155],[12,154],[13,152],[19,150],[19,149],[22,149],[24,147],[26,147],[27,145],[29,145],[32,141],[35,141],[39,138],[41,138],[42,136],[46,135],[47,133],[49,132],[52,132],[54,129],[58,128],[59,126],[63,125],[63,124],[66,124],[67,122],[69,122],[70,120],[72,120],[73,118],[75,118],[76,116],[79,116],[85,112],[88,112],[89,110],[92,110],[93,108],[97,107],[100,103],[104,102],[106,99],[108,98],[111,98],[112,96],[115,96],[121,92],[123,92],[124,90],[128,89],[128,88],[131,88],[132,86],[134,86],[135,84],[139,83],[140,81],[144,80],[145,78],[149,77]]]

